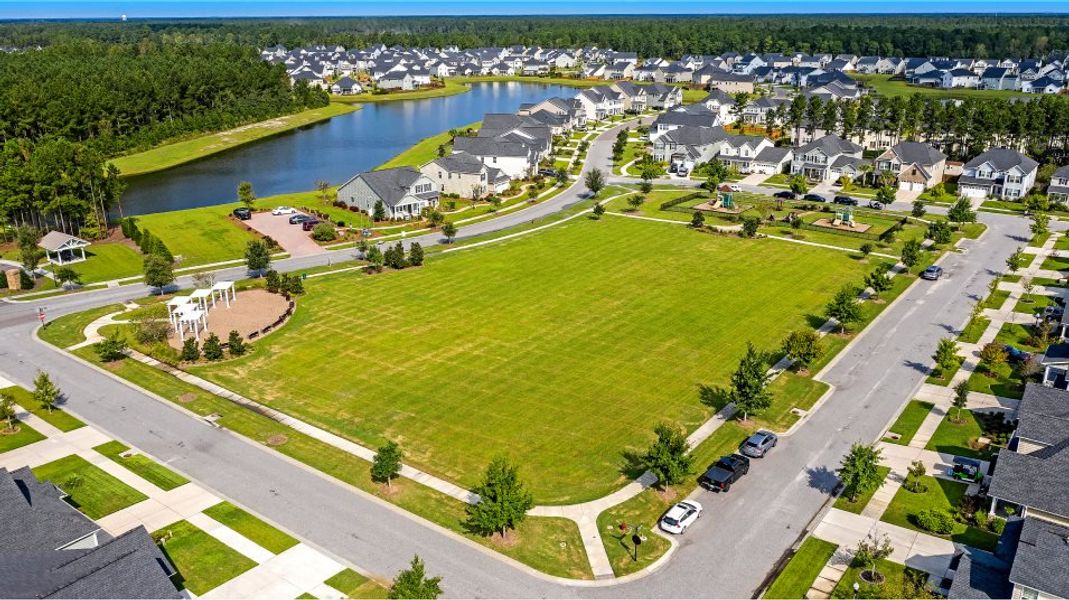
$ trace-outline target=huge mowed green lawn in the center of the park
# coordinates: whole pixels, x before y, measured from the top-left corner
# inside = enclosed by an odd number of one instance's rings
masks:
[[[599,497],[653,426],[693,430],[747,340],[778,348],[867,265],[845,252],[636,219],[576,219],[419,270],[307,282],[247,358],[250,398],[470,487],[506,453],[540,503]],[[807,319],[807,316],[810,319]]]

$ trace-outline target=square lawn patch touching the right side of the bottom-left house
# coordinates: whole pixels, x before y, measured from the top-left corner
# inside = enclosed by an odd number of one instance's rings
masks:
[[[177,568],[176,583],[198,596],[257,566],[188,521],[172,523],[152,535]]]

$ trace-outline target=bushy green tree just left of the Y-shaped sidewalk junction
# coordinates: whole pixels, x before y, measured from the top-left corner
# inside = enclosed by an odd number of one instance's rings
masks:
[[[505,457],[491,461],[482,482],[471,491],[480,499],[467,506],[467,525],[483,535],[500,533],[503,537],[534,506],[531,493],[520,481],[517,468]]]

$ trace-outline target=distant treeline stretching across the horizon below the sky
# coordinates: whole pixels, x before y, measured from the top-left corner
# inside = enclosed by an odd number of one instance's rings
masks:
[[[1069,17],[1051,15],[552,16],[181,19],[127,22],[14,22],[0,45],[64,39],[143,40],[258,47],[598,46],[641,57],[685,53],[851,52],[954,58],[1035,58],[1069,49]]]

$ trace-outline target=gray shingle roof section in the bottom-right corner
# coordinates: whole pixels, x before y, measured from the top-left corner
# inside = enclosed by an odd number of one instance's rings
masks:
[[[1032,517],[1025,518],[1009,581],[1057,598],[1069,598],[1067,565],[1069,527]]]

